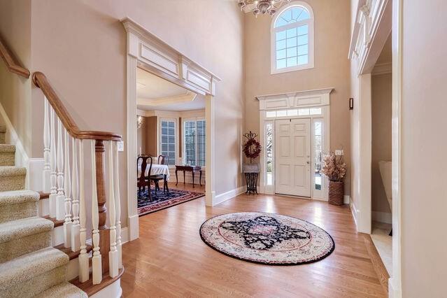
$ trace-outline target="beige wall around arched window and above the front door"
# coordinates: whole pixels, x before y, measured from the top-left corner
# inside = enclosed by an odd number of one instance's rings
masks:
[[[246,130],[260,131],[257,95],[334,87],[330,96],[330,148],[350,163],[348,0],[309,0],[315,15],[315,68],[270,74],[271,17],[246,15]],[[345,180],[349,193],[349,176]]]

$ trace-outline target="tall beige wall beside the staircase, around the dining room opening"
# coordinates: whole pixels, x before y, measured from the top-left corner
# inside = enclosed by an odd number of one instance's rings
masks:
[[[12,14],[12,19],[15,13],[15,8],[10,7],[12,2],[16,1],[1,1],[2,31],[3,22],[10,20],[4,17]],[[243,14],[233,1],[166,0],[157,1],[154,6],[152,1],[144,0],[34,0],[29,10],[32,17],[29,12],[19,15],[27,19],[28,23],[23,23],[27,30],[32,28],[31,43],[11,39],[13,48],[24,43],[23,48],[31,49],[30,53],[20,52],[20,56],[30,56],[31,71],[45,73],[80,129],[117,132],[126,141],[126,34],[119,22],[123,17],[132,17],[220,76],[222,82],[218,83],[215,96],[216,194],[242,185],[238,157],[244,125],[244,31]],[[19,26],[18,21],[13,24]],[[17,32],[8,31],[10,36]],[[27,83],[31,84],[31,80]],[[33,104],[43,107],[41,91],[33,87],[31,92]],[[11,112],[14,113],[18,113],[17,109]],[[41,111],[37,114],[42,119]],[[43,125],[34,127],[36,139],[27,148],[32,157],[42,157]],[[21,132],[24,138],[28,134],[26,130]],[[86,147],[90,148],[90,144]],[[87,154],[85,159],[89,158]],[[126,226],[125,152],[120,153],[120,169],[122,222]]]

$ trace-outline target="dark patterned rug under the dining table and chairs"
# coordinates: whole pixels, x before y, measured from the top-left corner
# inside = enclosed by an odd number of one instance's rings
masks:
[[[169,193],[163,193],[163,190],[158,190],[155,194],[155,188],[151,188],[152,201],[149,200],[148,189],[141,192],[138,196],[138,214],[145,215],[155,211],[169,208],[178,204],[191,201],[199,197],[204,197],[201,192],[188,192],[187,190],[169,189]]]

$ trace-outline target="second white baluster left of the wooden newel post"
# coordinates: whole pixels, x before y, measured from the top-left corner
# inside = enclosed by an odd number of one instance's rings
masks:
[[[85,229],[85,193],[84,193],[84,144],[83,140],[79,141],[79,239],[80,239],[80,255],[79,259],[79,281],[85,283],[89,278],[89,265]]]

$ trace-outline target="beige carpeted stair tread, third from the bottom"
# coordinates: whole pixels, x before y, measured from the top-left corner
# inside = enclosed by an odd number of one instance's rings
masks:
[[[51,220],[45,220],[45,218],[38,217],[3,222],[0,224],[0,243],[32,234],[51,232],[53,226],[54,224]]]

